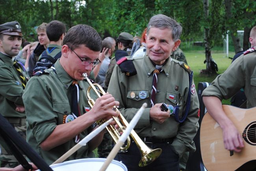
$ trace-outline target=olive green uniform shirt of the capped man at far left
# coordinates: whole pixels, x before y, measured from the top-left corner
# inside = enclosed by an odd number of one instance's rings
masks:
[[[0,112],[6,118],[25,118],[25,112],[15,111],[15,104],[24,105],[22,100],[24,90],[11,58],[0,53]],[[24,76],[26,77],[25,73]]]

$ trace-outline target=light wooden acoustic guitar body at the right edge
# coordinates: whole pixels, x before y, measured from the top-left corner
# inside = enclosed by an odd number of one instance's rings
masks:
[[[223,105],[223,110],[243,136],[245,147],[233,154],[224,148],[222,129],[206,113],[200,126],[200,148],[208,171],[234,171],[243,164],[256,160],[256,107],[241,109]]]

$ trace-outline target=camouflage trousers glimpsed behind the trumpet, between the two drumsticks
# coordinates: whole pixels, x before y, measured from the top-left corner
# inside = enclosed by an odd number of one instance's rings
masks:
[[[103,136],[103,140],[101,144],[98,146],[98,157],[107,158],[111,150],[112,150],[112,137],[108,133],[108,131],[106,131]]]

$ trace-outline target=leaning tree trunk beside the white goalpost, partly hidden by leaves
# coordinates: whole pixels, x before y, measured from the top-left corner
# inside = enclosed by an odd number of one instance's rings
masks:
[[[231,8],[232,8],[232,0],[224,0],[225,2],[225,8],[226,8],[226,18],[234,18]],[[234,27],[231,27],[229,29],[230,35],[232,37],[232,41],[235,48],[235,53],[242,51],[241,45],[240,45],[240,39],[237,37],[237,30]]]

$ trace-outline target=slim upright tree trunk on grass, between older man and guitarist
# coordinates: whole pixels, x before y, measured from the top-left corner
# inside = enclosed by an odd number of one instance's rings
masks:
[[[210,36],[209,36],[209,22],[208,22],[208,18],[209,18],[209,1],[208,0],[204,0],[204,18],[206,20],[206,23],[208,23],[208,25],[204,26],[204,48],[205,48],[205,63],[206,63],[206,71],[202,70],[202,73],[208,73],[208,75],[210,76],[210,74],[215,74],[216,70],[215,68],[213,68],[212,62],[212,58],[211,58],[211,44],[210,44]]]

